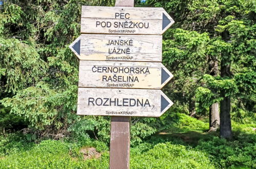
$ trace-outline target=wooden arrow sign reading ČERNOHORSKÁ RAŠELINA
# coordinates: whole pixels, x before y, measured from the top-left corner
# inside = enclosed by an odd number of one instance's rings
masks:
[[[160,62],[81,60],[78,87],[161,89],[172,77]]]

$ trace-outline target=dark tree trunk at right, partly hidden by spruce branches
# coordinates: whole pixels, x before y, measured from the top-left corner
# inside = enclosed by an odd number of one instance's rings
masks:
[[[223,32],[223,40],[228,40],[228,33]],[[221,58],[221,77],[230,77],[230,54],[228,52],[222,53]],[[220,137],[230,139],[232,137],[231,131],[231,117],[230,117],[230,96],[226,96],[225,90],[221,91],[223,100],[221,101],[220,114]]]

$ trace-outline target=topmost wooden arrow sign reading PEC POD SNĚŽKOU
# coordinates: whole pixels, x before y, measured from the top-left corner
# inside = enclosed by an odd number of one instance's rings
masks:
[[[81,33],[163,34],[173,23],[163,8],[82,6]]]

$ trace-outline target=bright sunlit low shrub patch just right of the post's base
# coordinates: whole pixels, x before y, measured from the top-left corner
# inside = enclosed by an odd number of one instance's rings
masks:
[[[132,153],[130,165],[131,168],[214,168],[206,153],[171,142],[156,144],[142,154]]]

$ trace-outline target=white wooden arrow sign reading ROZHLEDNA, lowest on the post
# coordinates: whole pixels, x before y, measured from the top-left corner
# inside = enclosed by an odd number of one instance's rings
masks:
[[[160,117],[172,105],[161,90],[78,88],[78,115]]]

